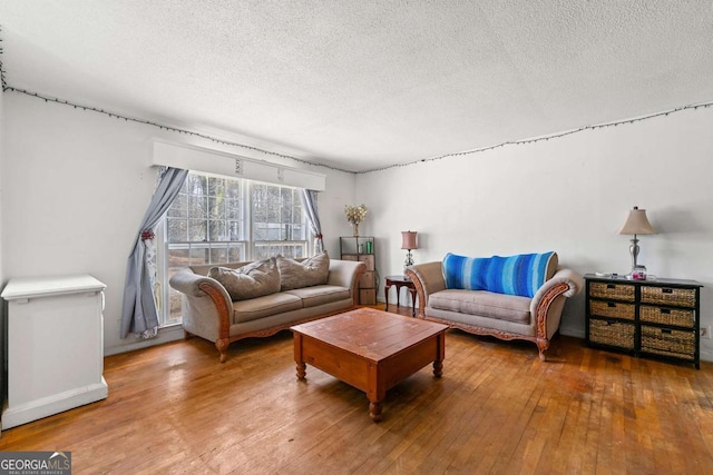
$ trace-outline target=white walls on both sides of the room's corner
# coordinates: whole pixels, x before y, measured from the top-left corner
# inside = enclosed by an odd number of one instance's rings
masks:
[[[156,127],[1,95],[0,273],[89,273],[107,284],[105,352],[119,339],[126,258],[155,185],[150,140],[243,151]],[[417,261],[554,249],[585,274],[626,273],[627,210],[647,209],[660,234],[642,236],[651,274],[701,281],[702,325],[713,325],[713,110],[673,113],[545,142],[352,175],[282,159],[328,176],[319,206],[326,249],[351,227],[344,205],[364,202],[363,235],[377,237],[380,276],[402,270],[401,231],[419,232]],[[275,159],[255,154],[245,156]],[[382,281],[383,284],[383,281]],[[382,298],[383,287],[378,296]],[[402,296],[402,301],[406,296]],[[561,331],[584,336],[584,298],[565,308]],[[164,338],[180,337],[180,333]],[[153,344],[156,342],[149,342]],[[702,357],[713,360],[712,340]]]

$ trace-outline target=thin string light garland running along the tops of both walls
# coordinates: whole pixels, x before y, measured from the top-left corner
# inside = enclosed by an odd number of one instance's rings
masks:
[[[2,32],[2,29],[0,28],[0,33]],[[2,42],[2,38],[0,38],[0,42]],[[457,157],[463,157],[463,156],[469,156],[469,155],[477,155],[477,154],[481,154],[481,152],[486,152],[489,150],[495,150],[501,147],[508,147],[508,146],[520,146],[520,145],[527,145],[527,144],[537,144],[537,142],[541,142],[541,141],[547,141],[547,140],[551,140],[551,139],[558,139],[558,138],[563,138],[563,137],[567,137],[574,133],[579,133],[579,132],[584,132],[587,130],[597,130],[597,129],[604,129],[607,127],[617,127],[617,126],[622,126],[622,125],[629,125],[629,123],[636,123],[636,122],[641,122],[643,120],[648,120],[648,119],[654,119],[657,117],[662,117],[662,116],[668,116],[670,113],[676,113],[676,112],[681,112],[684,110],[696,110],[700,108],[709,108],[713,106],[713,101],[711,102],[702,102],[702,103],[695,103],[695,105],[688,105],[688,106],[682,106],[682,107],[676,107],[674,109],[670,109],[670,110],[665,110],[662,112],[654,112],[654,113],[649,113],[646,116],[641,116],[641,117],[635,117],[632,119],[623,119],[623,120],[615,120],[612,122],[605,122],[605,123],[597,123],[594,126],[585,126],[585,127],[579,127],[577,129],[572,129],[572,130],[567,130],[564,132],[557,132],[557,133],[551,133],[551,135],[547,135],[547,136],[539,136],[539,137],[534,137],[534,138],[529,138],[529,139],[522,139],[522,140],[508,140],[505,142],[500,142],[500,144],[496,144],[496,145],[491,145],[491,146],[487,146],[487,147],[480,147],[480,148],[476,148],[476,149],[471,149],[471,150],[463,150],[463,151],[457,151],[457,152],[450,152],[450,154],[443,154],[440,156],[436,156],[436,157],[430,157],[430,158],[422,158],[419,160],[413,160],[413,161],[408,161],[404,164],[395,164],[395,165],[388,165],[385,167],[380,167],[380,168],[373,168],[370,170],[363,170],[363,171],[351,171],[351,170],[344,170],[342,168],[338,168],[338,167],[333,167],[330,165],[323,165],[323,164],[316,164],[310,160],[305,160],[302,158],[297,158],[297,157],[293,157],[290,155],[285,155],[285,154],[280,154],[276,151],[271,151],[271,150],[264,150],[262,148],[258,147],[254,147],[254,146],[248,146],[248,145],[244,145],[244,144],[238,144],[238,142],[234,142],[234,141],[229,141],[229,140],[223,140],[223,139],[218,139],[212,136],[208,136],[206,133],[201,133],[201,132],[196,132],[193,130],[186,130],[186,129],[180,129],[178,127],[173,127],[173,126],[165,126],[158,122],[153,122],[150,120],[145,120],[145,119],[137,119],[135,117],[128,117],[128,116],[124,116],[120,113],[116,113],[116,112],[110,112],[104,109],[98,109],[96,107],[91,107],[91,106],[82,106],[79,103],[75,103],[75,102],[70,102],[67,100],[62,100],[62,99],[58,99],[58,98],[53,98],[53,97],[48,97],[48,96],[43,96],[40,95],[38,92],[32,92],[26,89],[20,89],[20,88],[16,88],[12,86],[9,86],[7,83],[6,80],[6,71],[4,71],[4,67],[2,65],[2,51],[3,48],[2,46],[0,46],[0,83],[2,83],[2,91],[11,91],[11,92],[19,92],[19,93],[23,93],[27,96],[31,96],[38,99],[43,99],[45,102],[55,102],[55,103],[59,103],[59,105],[64,105],[64,106],[70,106],[74,107],[75,109],[81,109],[84,111],[90,111],[90,112],[98,112],[98,113],[104,113],[106,116],[109,116],[110,118],[116,118],[116,119],[124,119],[127,122],[136,122],[136,123],[143,123],[146,126],[152,126],[152,127],[158,127],[162,130],[167,130],[170,132],[177,132],[177,133],[185,133],[187,136],[191,137],[196,137],[196,138],[202,138],[205,140],[209,140],[214,144],[218,144],[218,145],[224,145],[224,146],[228,146],[228,147],[238,147],[242,148],[244,150],[252,150],[258,154],[264,154],[264,155],[270,155],[273,157],[280,157],[280,158],[286,158],[290,160],[294,160],[296,162],[303,164],[303,165],[309,165],[312,167],[322,167],[322,168],[326,168],[330,170],[335,170],[335,171],[342,171],[345,174],[352,174],[352,175],[365,175],[365,174],[372,174],[374,171],[384,171],[384,170],[390,170],[392,168],[400,168],[400,167],[410,167],[412,165],[419,165],[419,164],[426,164],[426,162],[430,162],[430,161],[437,161],[437,160],[445,160],[448,158],[457,158]]]

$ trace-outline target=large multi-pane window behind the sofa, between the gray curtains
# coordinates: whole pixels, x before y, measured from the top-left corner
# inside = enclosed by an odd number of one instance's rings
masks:
[[[306,229],[296,188],[188,174],[165,218],[163,325],[180,323],[180,295],[168,285],[180,268],[279,254],[306,257]]]

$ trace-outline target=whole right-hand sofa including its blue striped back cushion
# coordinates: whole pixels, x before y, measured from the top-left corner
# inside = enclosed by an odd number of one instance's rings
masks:
[[[448,254],[442,261],[410,266],[406,275],[417,290],[418,317],[476,335],[534,342],[541,360],[559,329],[565,299],[584,287],[579,275],[558,267],[556,253]]]

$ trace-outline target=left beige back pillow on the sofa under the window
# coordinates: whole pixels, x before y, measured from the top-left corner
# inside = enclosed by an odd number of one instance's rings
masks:
[[[213,267],[208,270],[225,287],[233,300],[246,300],[280,291],[280,271],[275,258],[256,260],[237,269]]]

